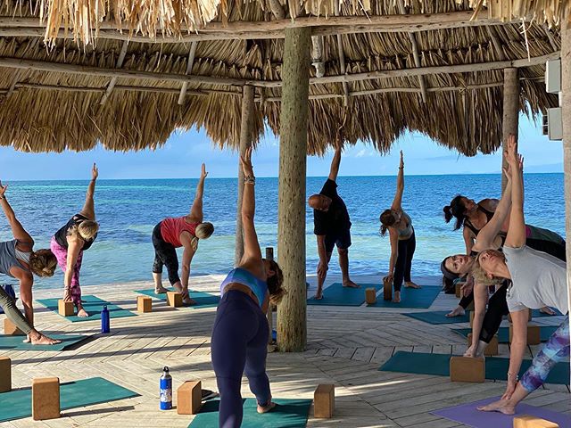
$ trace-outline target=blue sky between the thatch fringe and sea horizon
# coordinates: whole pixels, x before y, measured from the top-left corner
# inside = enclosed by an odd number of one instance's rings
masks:
[[[526,172],[562,172],[563,151],[559,141],[541,135],[525,116],[520,117],[520,152],[525,155]],[[254,167],[259,177],[277,177],[277,139],[269,133],[254,154]],[[398,153],[405,155],[407,174],[475,174],[500,172],[501,153],[472,158],[452,152],[416,133],[409,133],[381,156],[368,144],[357,144],[343,154],[340,175],[394,175]],[[308,176],[327,176],[331,153],[324,158],[308,158]],[[41,180],[81,179],[89,177],[92,162],[97,162],[102,178],[182,178],[198,177],[204,161],[209,177],[236,177],[236,152],[220,151],[203,131],[189,131],[170,136],[168,143],[154,152],[107,152],[97,148],[91,152],[22,153],[9,147],[0,148],[0,179]]]

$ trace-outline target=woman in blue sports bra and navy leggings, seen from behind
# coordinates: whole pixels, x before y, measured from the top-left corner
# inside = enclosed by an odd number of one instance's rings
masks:
[[[211,338],[211,358],[220,393],[219,427],[238,428],[242,424],[243,403],[240,386],[245,372],[250,391],[258,401],[258,412],[276,405],[271,401],[266,374],[269,301],[284,295],[282,271],[273,260],[262,259],[253,224],[255,177],[252,148],[240,158],[244,169],[242,225],[244,256],[220,285],[220,302]]]

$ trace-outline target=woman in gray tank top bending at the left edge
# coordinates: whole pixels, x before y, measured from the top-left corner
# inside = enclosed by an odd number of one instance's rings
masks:
[[[6,200],[7,185],[0,182],[0,206],[4,211],[14,239],[0,243],[0,273],[12,276],[20,281],[20,298],[24,305],[26,317],[22,316],[20,309],[16,307],[15,300],[4,288],[0,287],[0,306],[4,309],[6,317],[20,330],[28,335],[27,342],[34,345],[52,345],[59,343],[39,333],[34,327],[34,308],[32,306],[32,285],[34,276],[53,276],[57,260],[52,251],[33,251],[34,240],[21,226],[16,218],[12,207]]]

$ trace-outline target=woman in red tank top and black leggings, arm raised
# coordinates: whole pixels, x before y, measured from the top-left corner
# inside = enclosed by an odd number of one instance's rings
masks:
[[[165,218],[153,229],[153,279],[154,292],[157,294],[168,292],[162,286],[162,267],[166,266],[169,273],[169,282],[178,292],[182,292],[186,305],[194,304],[188,294],[188,278],[190,276],[190,262],[198,248],[198,240],[206,239],[214,232],[211,223],[203,222],[203,193],[204,178],[208,173],[203,169],[196,186],[193,206],[190,213],[178,218]],[[176,249],[184,247],[182,253],[182,279],[178,276],[178,256]]]

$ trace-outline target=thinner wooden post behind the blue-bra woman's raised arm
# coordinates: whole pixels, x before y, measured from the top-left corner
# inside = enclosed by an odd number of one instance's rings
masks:
[[[252,145],[253,124],[253,86],[244,86],[242,90],[242,118],[240,122],[240,154]],[[244,255],[244,235],[242,235],[242,193],[244,193],[244,172],[238,159],[238,203],[236,203],[236,248],[234,265]]]

